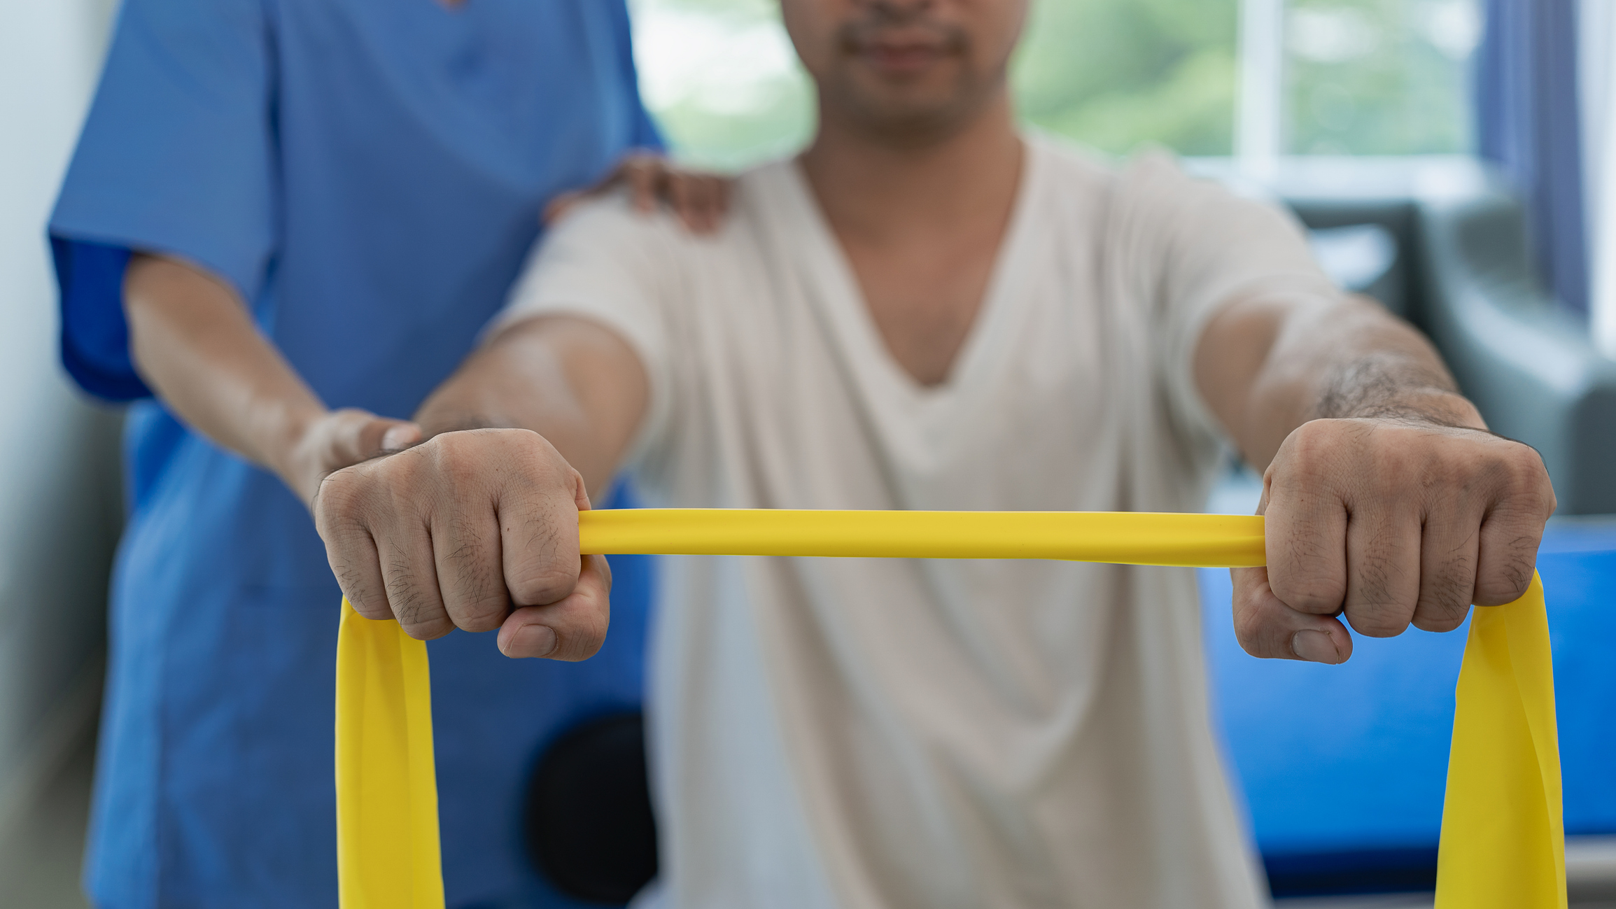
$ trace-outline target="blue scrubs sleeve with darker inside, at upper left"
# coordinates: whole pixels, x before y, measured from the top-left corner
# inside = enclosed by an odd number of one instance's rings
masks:
[[[131,250],[176,255],[244,300],[275,244],[271,29],[262,0],[128,0],[50,218],[61,358],[89,392],[150,391],[123,316]]]

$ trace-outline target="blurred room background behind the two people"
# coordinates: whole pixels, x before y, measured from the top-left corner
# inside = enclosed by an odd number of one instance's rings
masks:
[[[473,0],[475,2],[475,0]],[[630,0],[642,90],[674,153],[789,155],[811,87],[774,0]],[[115,0],[0,3],[0,906],[82,906],[78,865],[118,413],[57,363],[44,223]],[[1290,205],[1345,286],[1427,331],[1490,425],[1537,446],[1572,899],[1616,906],[1616,3],[1034,0],[1029,126]],[[1210,510],[1251,512],[1230,465]],[[1430,906],[1461,635],[1343,668],[1243,657],[1202,573],[1231,772],[1277,896]],[[1280,731],[1275,731],[1280,730]],[[1325,781],[1320,785],[1320,781]]]

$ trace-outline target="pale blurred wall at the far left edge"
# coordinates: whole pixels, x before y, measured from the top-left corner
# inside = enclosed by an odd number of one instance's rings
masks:
[[[57,365],[45,244],[113,0],[0,0],[0,828],[94,717],[116,413]]]

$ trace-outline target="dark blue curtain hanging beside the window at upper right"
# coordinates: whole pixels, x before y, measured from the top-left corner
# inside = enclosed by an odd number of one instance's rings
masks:
[[[1477,150],[1526,200],[1550,289],[1587,313],[1576,0],[1487,0],[1475,76]]]

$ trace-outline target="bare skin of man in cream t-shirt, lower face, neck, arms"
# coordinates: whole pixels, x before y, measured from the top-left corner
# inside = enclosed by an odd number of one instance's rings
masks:
[[[819,86],[803,171],[887,349],[918,384],[944,383],[1020,181],[1005,61],[1025,3],[782,11]],[[1341,618],[1375,636],[1450,630],[1467,604],[1524,593],[1555,507],[1547,471],[1487,433],[1412,328],[1346,295],[1231,299],[1194,360],[1207,404],[1265,468],[1269,567],[1235,572],[1249,652],[1341,662]],[[646,397],[606,328],[509,326],[417,413],[430,441],[322,486],[315,518],[344,593],[419,636],[498,625],[507,656],[595,652],[609,576],[579,559],[577,512]],[[485,428],[452,431],[465,426]]]

